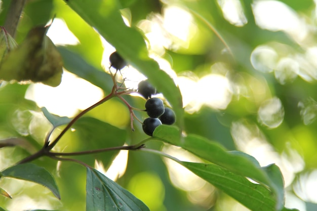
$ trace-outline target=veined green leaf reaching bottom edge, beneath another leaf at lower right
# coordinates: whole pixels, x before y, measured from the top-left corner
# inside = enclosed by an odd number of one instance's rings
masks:
[[[179,161],[197,176],[203,178],[226,194],[254,211],[276,211],[275,197],[265,186],[254,184],[243,176],[215,164]],[[288,210],[284,206],[280,209]]]

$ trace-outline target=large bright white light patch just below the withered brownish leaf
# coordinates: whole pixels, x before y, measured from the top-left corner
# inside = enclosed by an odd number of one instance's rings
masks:
[[[73,116],[101,100],[103,91],[76,75],[64,71],[58,87],[35,83],[28,88],[25,98],[35,101],[38,107],[60,116]]]

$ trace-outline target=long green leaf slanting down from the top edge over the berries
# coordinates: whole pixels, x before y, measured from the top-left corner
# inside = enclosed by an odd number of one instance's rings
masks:
[[[148,57],[145,41],[140,31],[128,27],[119,11],[116,0],[67,1],[78,15],[94,27],[118,53],[144,75],[157,90],[160,90],[172,105],[177,124],[183,128],[182,96],[172,78]],[[133,40],[133,41],[132,41]]]

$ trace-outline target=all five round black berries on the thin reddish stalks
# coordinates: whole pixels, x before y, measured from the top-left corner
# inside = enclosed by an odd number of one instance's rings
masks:
[[[110,67],[117,70],[121,70],[127,65],[126,61],[117,52],[113,52],[110,55],[109,61],[111,63]],[[139,82],[138,93],[147,99],[145,111],[149,117],[144,119],[142,123],[142,129],[145,134],[152,136],[157,126],[161,124],[173,124],[175,122],[174,111],[169,107],[165,107],[163,100],[160,98],[152,98],[152,95],[156,94],[156,89],[148,80]]]

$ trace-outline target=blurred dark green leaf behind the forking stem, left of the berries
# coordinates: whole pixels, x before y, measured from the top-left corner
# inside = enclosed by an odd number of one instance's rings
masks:
[[[71,152],[123,146],[127,137],[126,130],[116,128],[109,123],[92,117],[78,119],[73,125],[73,129],[75,129],[74,134],[77,135],[78,140],[75,140],[76,143],[68,143],[73,146],[70,149]],[[105,167],[108,167],[118,152],[118,150],[112,150],[84,155],[81,159],[84,159],[83,161],[90,165],[94,165],[95,159],[97,159],[102,161]]]

